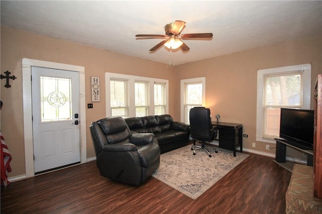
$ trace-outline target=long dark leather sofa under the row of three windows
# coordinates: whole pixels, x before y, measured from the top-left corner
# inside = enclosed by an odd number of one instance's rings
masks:
[[[132,133],[153,133],[161,154],[189,143],[190,125],[174,122],[170,115],[127,118],[125,122]]]

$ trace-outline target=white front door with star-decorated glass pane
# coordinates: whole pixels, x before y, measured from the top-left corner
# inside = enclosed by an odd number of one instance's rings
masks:
[[[79,74],[32,67],[35,173],[81,161]]]

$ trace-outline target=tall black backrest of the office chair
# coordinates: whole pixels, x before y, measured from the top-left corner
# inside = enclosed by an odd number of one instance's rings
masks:
[[[210,109],[204,107],[195,107],[190,110],[190,133],[195,139],[211,138],[211,117]]]

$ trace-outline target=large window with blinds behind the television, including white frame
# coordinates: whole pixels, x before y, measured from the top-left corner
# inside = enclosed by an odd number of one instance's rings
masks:
[[[279,137],[281,108],[309,109],[311,66],[309,64],[258,71],[258,141],[275,143]]]

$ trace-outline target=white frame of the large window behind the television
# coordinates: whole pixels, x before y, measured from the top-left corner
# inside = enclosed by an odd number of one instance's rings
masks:
[[[275,140],[265,139],[262,136],[263,133],[263,85],[264,76],[274,73],[288,73],[290,71],[303,70],[303,103],[302,109],[310,109],[311,101],[311,65],[301,64],[292,65],[278,68],[261,69],[257,71],[257,119],[256,119],[256,141],[273,143]]]

